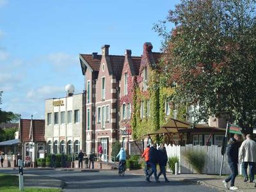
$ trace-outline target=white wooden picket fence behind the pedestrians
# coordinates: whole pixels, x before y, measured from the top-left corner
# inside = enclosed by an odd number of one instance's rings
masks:
[[[165,145],[165,147],[166,147],[166,152],[168,157],[173,157],[173,156],[179,157],[179,173],[196,173],[195,170],[193,170],[191,164],[189,164],[186,161],[186,158],[184,157],[184,153],[187,150],[202,150],[205,152],[205,154],[207,154],[203,173],[214,174],[214,175],[220,174],[222,156],[221,156],[221,147],[218,147],[217,145],[200,146],[200,145],[190,144],[186,146]],[[238,170],[240,173],[240,168]],[[230,174],[230,173],[231,172],[228,166],[227,156],[225,155],[222,174],[224,175],[224,174]]]

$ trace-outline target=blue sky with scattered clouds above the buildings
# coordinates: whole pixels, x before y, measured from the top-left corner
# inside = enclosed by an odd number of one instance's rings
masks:
[[[0,108],[22,118],[44,118],[45,99],[65,97],[65,85],[84,90],[79,54],[109,54],[143,43],[160,51],[152,29],[178,0],[0,0]]]

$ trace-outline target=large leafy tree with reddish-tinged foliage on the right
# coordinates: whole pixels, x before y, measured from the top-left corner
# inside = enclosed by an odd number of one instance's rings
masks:
[[[154,29],[163,36],[164,86],[175,101],[199,104],[197,121],[225,113],[256,124],[255,0],[182,0]],[[167,24],[175,27],[168,31]]]

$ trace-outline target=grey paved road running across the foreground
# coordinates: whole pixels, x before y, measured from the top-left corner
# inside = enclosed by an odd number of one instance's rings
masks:
[[[17,170],[0,170],[0,173],[17,173]],[[51,177],[52,182],[62,180],[64,185],[63,191],[216,191],[216,189],[206,188],[196,185],[193,182],[180,182],[170,180],[165,183],[163,178],[160,178],[160,183],[151,183],[145,181],[143,176],[126,174],[125,177],[119,177],[113,171],[100,172],[64,172],[58,170],[24,170],[24,175],[42,175],[45,178]],[[43,179],[44,177],[35,177]],[[40,182],[38,182],[40,183]],[[55,182],[54,182],[55,183]],[[50,184],[51,185],[51,184]]]

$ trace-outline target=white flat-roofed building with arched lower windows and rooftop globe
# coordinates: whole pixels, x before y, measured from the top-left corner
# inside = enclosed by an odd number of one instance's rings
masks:
[[[67,97],[45,100],[47,154],[85,151],[84,93],[73,94],[74,86],[70,84],[66,86],[66,91]]]

